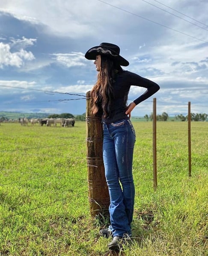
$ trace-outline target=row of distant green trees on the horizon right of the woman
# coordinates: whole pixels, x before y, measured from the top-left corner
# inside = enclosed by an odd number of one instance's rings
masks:
[[[199,114],[199,113],[190,113],[191,116],[191,121],[206,121],[208,114]],[[146,121],[152,121],[153,120],[153,113],[151,113],[149,116],[146,114],[144,116]],[[163,112],[161,115],[157,115],[157,121],[167,121],[169,118],[168,114],[166,112]],[[180,120],[180,121],[187,121],[188,120],[188,115],[184,116],[182,114],[180,115],[175,115],[175,120]],[[172,119],[174,121],[174,119]]]

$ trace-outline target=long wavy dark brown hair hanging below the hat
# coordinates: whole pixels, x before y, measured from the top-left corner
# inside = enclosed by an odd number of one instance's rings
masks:
[[[110,106],[114,99],[113,82],[122,67],[113,59],[101,56],[101,69],[98,80],[92,87],[91,113],[95,116],[103,114],[104,118],[110,115]]]

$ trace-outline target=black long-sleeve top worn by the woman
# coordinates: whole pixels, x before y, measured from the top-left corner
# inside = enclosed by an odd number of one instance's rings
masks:
[[[126,103],[131,85],[146,88],[146,91],[134,100],[136,105],[142,101],[145,101],[160,89],[160,86],[155,82],[152,82],[151,80],[135,73],[127,70],[119,72],[115,78],[115,82],[113,82],[114,99],[110,105],[110,115],[107,118],[103,117],[102,122],[109,124],[128,118],[125,112],[127,109]]]

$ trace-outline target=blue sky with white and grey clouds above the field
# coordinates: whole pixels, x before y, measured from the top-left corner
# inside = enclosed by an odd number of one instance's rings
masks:
[[[133,116],[208,113],[207,0],[0,0],[0,111],[86,112],[97,79],[85,52],[120,46],[125,67],[160,85]],[[129,101],[144,88],[131,86]]]

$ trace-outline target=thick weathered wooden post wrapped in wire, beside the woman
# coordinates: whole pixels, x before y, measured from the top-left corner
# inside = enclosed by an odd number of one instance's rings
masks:
[[[90,113],[90,91],[86,93],[87,166],[90,213],[108,216],[110,197],[103,164],[103,127],[101,118]]]

